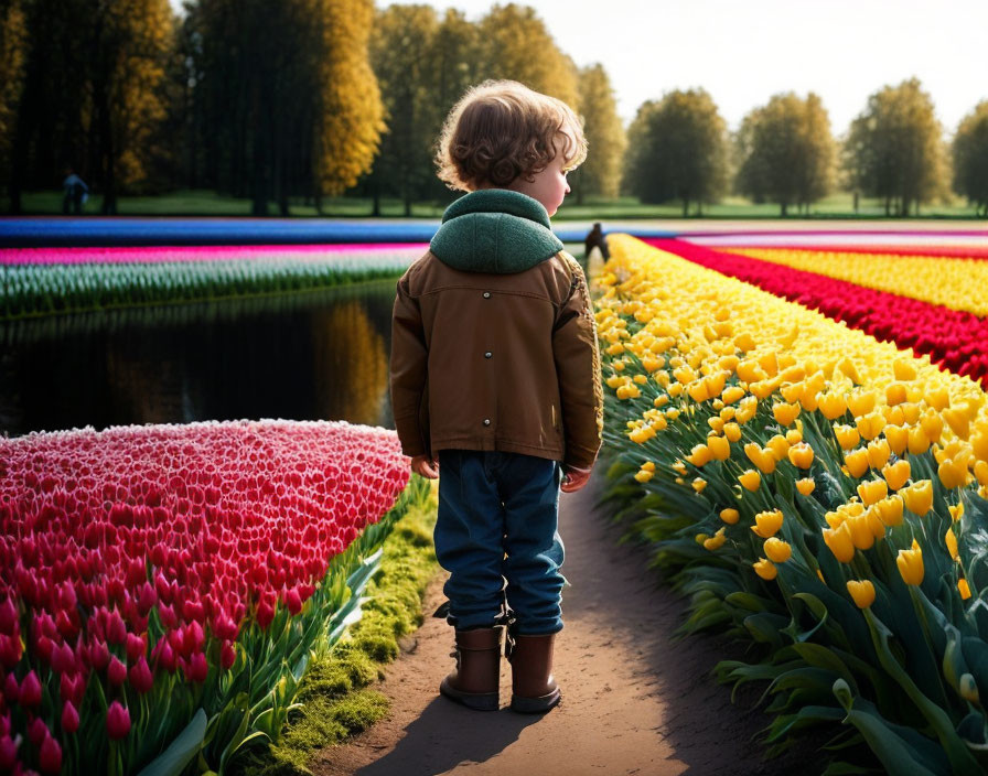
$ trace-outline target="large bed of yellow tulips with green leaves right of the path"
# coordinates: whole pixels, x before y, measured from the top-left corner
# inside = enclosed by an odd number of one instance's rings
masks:
[[[690,596],[684,629],[752,643],[758,662],[719,675],[769,680],[780,747],[826,725],[857,759],[829,773],[981,773],[985,394],[642,241],[609,245],[608,497]]]

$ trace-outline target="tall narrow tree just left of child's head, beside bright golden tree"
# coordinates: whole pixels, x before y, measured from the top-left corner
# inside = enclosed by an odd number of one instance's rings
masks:
[[[437,80],[431,55],[439,20],[431,6],[390,6],[378,11],[370,35],[370,63],[387,110],[387,131],[375,161],[375,215],[383,185],[397,193],[411,215],[412,200],[430,179],[432,142],[439,131],[430,87]]]

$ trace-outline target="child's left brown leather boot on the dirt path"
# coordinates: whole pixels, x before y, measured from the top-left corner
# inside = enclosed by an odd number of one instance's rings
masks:
[[[501,637],[504,626],[457,630],[457,669],[439,691],[457,703],[477,711],[497,711],[501,685]]]

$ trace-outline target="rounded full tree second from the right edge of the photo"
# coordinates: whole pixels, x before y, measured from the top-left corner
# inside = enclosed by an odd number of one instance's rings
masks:
[[[946,188],[942,134],[919,79],[883,87],[851,122],[845,154],[852,185],[882,197],[885,215],[919,212]]]

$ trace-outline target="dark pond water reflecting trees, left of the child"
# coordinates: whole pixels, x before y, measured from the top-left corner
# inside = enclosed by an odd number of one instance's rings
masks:
[[[395,281],[0,324],[0,432],[286,418],[394,427]]]

